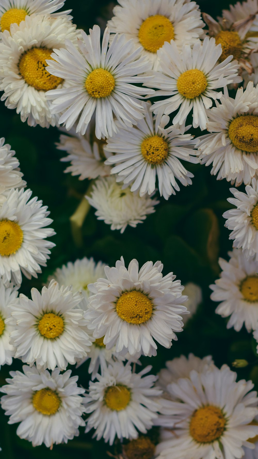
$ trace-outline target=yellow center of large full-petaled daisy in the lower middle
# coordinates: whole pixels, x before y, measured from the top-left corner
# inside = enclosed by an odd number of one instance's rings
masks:
[[[119,317],[129,324],[143,324],[150,319],[153,304],[140,291],[125,291],[118,298],[116,310]]]

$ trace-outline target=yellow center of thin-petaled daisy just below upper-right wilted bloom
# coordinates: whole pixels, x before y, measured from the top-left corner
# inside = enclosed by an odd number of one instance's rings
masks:
[[[204,73],[197,68],[192,68],[179,76],[177,89],[186,99],[194,99],[206,90],[207,84]]]

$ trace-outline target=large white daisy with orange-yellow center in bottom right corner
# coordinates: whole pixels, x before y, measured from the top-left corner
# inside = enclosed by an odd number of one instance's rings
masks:
[[[205,372],[192,370],[189,378],[168,385],[172,400],[163,399],[157,423],[173,429],[174,437],[157,446],[158,459],[241,458],[242,446],[258,434],[250,425],[258,414],[252,381],[236,382],[227,365]]]

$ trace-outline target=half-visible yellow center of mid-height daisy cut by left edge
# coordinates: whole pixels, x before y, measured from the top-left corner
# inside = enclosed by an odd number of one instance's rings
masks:
[[[23,232],[20,226],[11,220],[0,222],[0,255],[8,257],[17,252],[22,245]]]

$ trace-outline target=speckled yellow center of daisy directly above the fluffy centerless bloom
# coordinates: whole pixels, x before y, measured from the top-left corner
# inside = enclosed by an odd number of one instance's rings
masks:
[[[151,164],[162,164],[168,156],[168,143],[159,135],[144,139],[140,149],[142,156]]]

